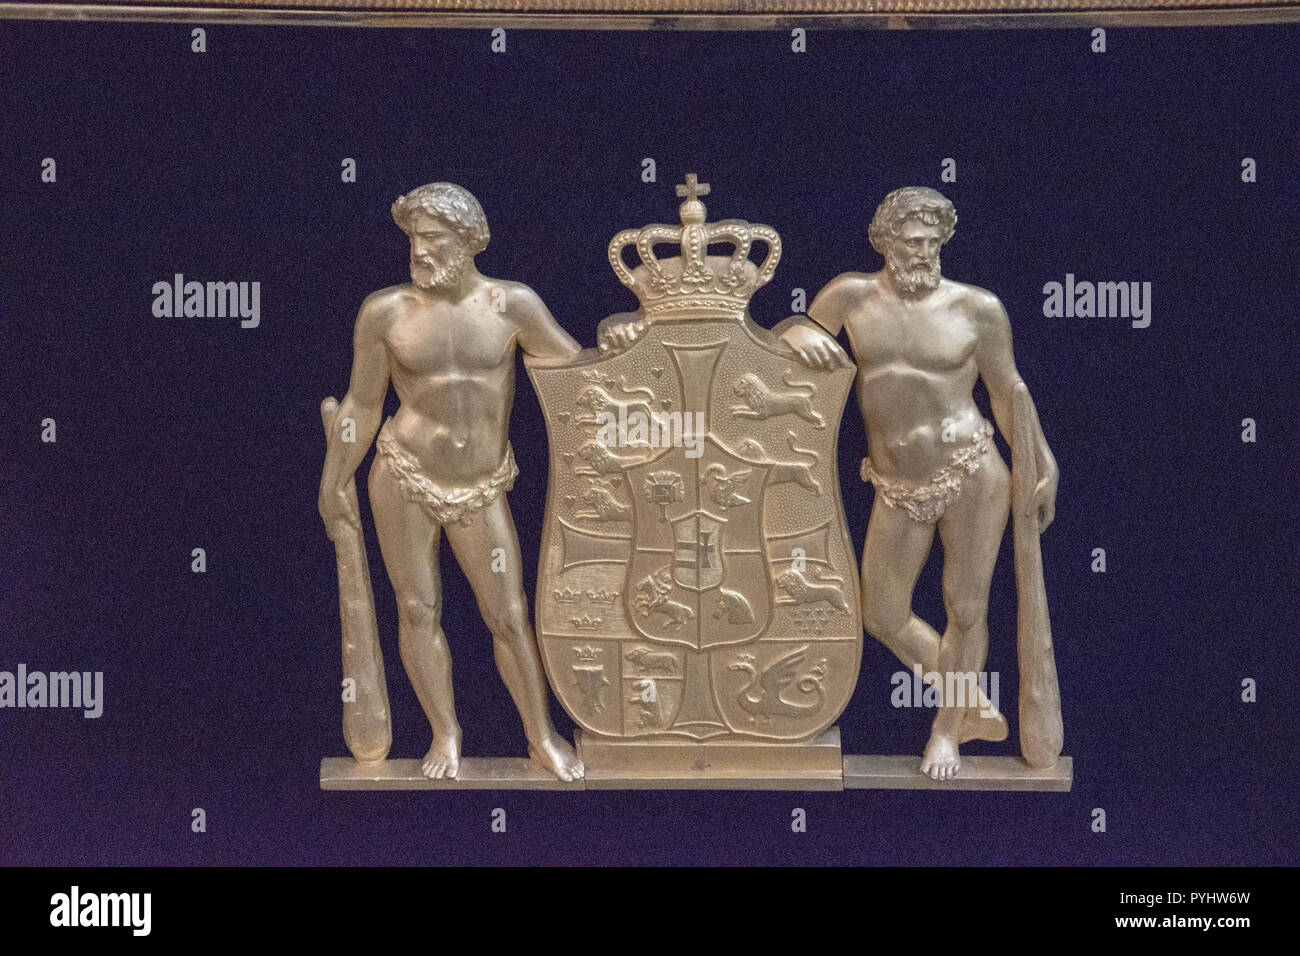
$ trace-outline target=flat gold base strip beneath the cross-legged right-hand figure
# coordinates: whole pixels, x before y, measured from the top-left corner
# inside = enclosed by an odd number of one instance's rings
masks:
[[[932,780],[920,773],[920,757],[844,758],[845,790],[1035,790],[1067,791],[1074,783],[1074,761],[1062,757],[1054,767],[1035,770],[1019,757],[962,757],[961,773],[950,780]]]

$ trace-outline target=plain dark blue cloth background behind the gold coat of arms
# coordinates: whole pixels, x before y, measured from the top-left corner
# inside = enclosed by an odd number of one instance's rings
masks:
[[[0,670],[103,670],[107,697],[98,721],[0,710],[0,862],[1296,862],[1300,29],[1088,42],[814,31],[796,56],[781,31],[512,30],[495,56],[484,30],[211,27],[196,56],[179,25],[0,22]],[[866,226],[888,190],[956,203],[945,273],[1006,304],[1061,464],[1043,548],[1072,792],[318,790],[320,758],[346,750],[317,408],[346,390],[361,299],[406,278],[389,203],[469,187],[493,230],[480,268],[590,345],[634,304],[608,238],[672,221],[692,170],[711,217],[784,239],[764,325],[792,287],[878,267]],[[260,281],[261,326],[153,319],[151,286],[176,272]],[[1150,328],[1044,319],[1043,285],[1067,272],[1153,282]],[[547,459],[521,369],[511,434],[532,597]],[[861,548],[853,402],[840,450]],[[393,754],[415,757],[428,727],[363,511]],[[1013,736],[971,753],[1015,752],[1009,542],[989,669]],[[941,624],[939,557],[916,609]],[[443,570],[465,750],[523,754],[446,550]],[[866,639],[846,752],[919,754],[931,713],[889,706],[894,670]]]

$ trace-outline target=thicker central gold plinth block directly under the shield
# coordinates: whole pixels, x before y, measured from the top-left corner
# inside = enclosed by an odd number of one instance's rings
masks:
[[[844,790],[840,728],[803,743],[577,736],[588,790]]]

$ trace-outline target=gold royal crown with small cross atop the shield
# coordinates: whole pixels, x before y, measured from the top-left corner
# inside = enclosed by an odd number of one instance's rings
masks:
[[[673,317],[740,319],[750,297],[767,285],[781,258],[781,237],[771,226],[725,219],[706,222],[705,204],[699,196],[708,193],[708,183],[694,173],[677,186],[681,225],[649,225],[624,229],[610,241],[610,265],[619,281],[641,299],[641,311],[649,321]],[[762,265],[749,258],[754,242],[767,246]],[[655,246],[677,245],[681,255],[659,259]],[[728,243],[732,254],[708,255],[711,245]],[[623,250],[636,246],[641,264],[628,268]]]

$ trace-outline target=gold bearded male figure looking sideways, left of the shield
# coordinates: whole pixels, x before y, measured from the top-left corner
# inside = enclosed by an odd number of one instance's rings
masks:
[[[433,728],[424,774],[455,777],[460,763],[441,626],[445,533],[491,631],[529,756],[572,780],[582,765],[551,724],[506,492],[517,475],[508,441],[515,347],[541,358],[572,356],[580,347],[532,289],[474,268],[489,233],[468,191],[446,182],[420,186],[393,204],[393,219],[411,238],[411,282],[369,295],[356,317],[352,378],[337,415],[356,423],[356,441],[330,441],[321,518],[332,537],[338,522],[360,527],[344,489],[378,433],[370,507],[396,592],[402,663]],[[400,407],[381,431],[390,380]],[[502,554],[503,564],[495,559]]]

